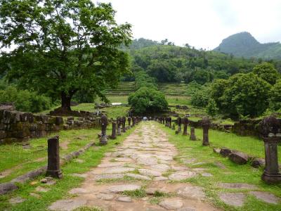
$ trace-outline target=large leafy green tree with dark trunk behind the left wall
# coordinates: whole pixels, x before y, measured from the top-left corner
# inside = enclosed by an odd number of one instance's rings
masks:
[[[1,70],[19,87],[54,98],[70,110],[77,91],[105,98],[128,71],[119,51],[131,25],[118,25],[111,4],[91,0],[1,0]],[[13,51],[4,49],[10,48]]]

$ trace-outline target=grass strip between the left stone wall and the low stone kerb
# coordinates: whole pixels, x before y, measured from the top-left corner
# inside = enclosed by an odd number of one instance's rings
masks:
[[[81,129],[60,131],[60,143],[66,143],[67,148],[60,148],[60,155],[66,155],[72,151],[77,151],[87,143],[93,141],[100,129]],[[108,131],[110,132],[110,130]],[[47,140],[50,136],[42,137],[39,139],[30,139],[29,143],[31,148],[23,149],[20,143],[13,143],[11,145],[3,145],[0,148],[0,172],[9,170],[12,172],[7,177],[0,179],[0,182],[10,181],[26,172],[46,165],[47,163]]]

